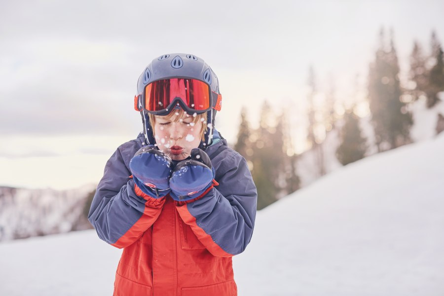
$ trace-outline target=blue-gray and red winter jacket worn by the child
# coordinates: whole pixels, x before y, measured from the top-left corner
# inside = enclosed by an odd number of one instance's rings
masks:
[[[105,166],[88,219],[99,237],[123,248],[114,296],[233,296],[231,257],[250,242],[257,191],[245,159],[215,133],[206,149],[214,185],[189,202],[155,199],[130,177],[140,134]]]

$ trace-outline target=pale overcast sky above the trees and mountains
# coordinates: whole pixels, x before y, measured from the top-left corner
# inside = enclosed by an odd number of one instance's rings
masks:
[[[136,82],[154,58],[203,58],[220,80],[216,125],[234,142],[241,106],[267,99],[303,126],[309,65],[320,89],[365,89],[381,27],[401,63],[413,40],[443,40],[444,1],[3,1],[0,185],[97,183],[115,148],[139,133]],[[407,65],[401,65],[406,70]]]

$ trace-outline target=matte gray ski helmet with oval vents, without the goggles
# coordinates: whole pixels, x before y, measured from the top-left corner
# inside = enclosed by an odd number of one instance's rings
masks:
[[[137,81],[136,97],[143,94],[145,86],[148,83],[160,79],[175,77],[186,77],[204,81],[210,85],[212,92],[220,94],[218,77],[204,60],[192,54],[171,53],[164,54],[148,64]],[[219,104],[220,103],[221,102],[219,102]],[[213,106],[215,104],[216,102],[213,102]],[[138,109],[136,108],[136,110]],[[149,124],[148,114],[143,110],[140,110],[140,112],[144,123],[144,133],[145,138],[147,139],[147,144],[153,145],[155,144],[155,139],[152,135],[152,127]],[[205,134],[205,141],[199,146],[200,148],[205,149],[211,145],[216,112],[217,111],[214,108],[207,111],[208,131]]]

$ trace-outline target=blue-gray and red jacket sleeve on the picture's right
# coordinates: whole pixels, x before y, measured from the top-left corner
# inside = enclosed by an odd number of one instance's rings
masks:
[[[219,185],[189,202],[177,202],[176,208],[211,254],[231,257],[251,240],[258,194],[247,162],[237,152],[217,169],[215,179]]]

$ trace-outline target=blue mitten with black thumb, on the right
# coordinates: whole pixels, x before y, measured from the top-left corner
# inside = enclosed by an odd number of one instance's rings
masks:
[[[170,178],[170,195],[178,201],[186,201],[201,195],[213,184],[215,171],[210,157],[199,148],[191,150],[191,159],[179,162]]]

